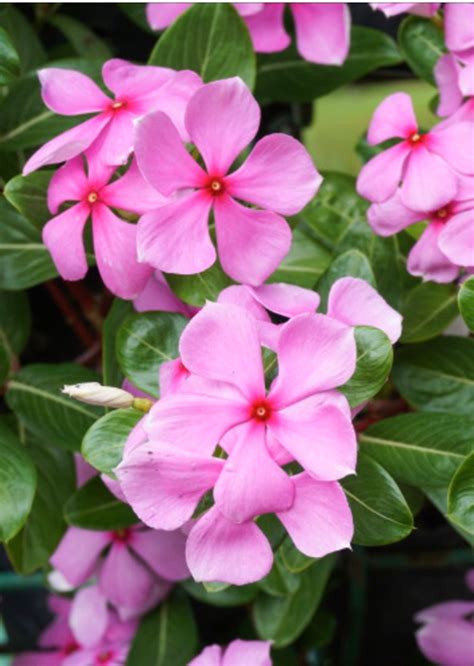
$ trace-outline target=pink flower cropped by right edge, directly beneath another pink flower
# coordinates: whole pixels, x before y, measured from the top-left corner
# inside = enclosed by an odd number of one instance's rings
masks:
[[[474,266],[474,182],[460,180],[457,198],[432,211],[407,208],[400,192],[382,204],[373,204],[367,213],[370,226],[380,236],[391,236],[402,229],[428,220],[428,226],[408,256],[412,275],[435,282],[452,282],[460,267]]]

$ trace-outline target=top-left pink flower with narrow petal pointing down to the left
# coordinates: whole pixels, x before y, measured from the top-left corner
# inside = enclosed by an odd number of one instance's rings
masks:
[[[110,98],[85,74],[49,67],[38,72],[43,101],[62,116],[95,113],[37,150],[23,169],[26,175],[46,164],[69,160],[101,142],[101,159],[109,165],[125,164],[133,146],[134,122],[150,111],[169,113],[184,132],[183,116],[191,94],[201,79],[191,71],[132,65],[114,58],[105,63],[102,76],[114,93]],[[186,138],[186,134],[183,134]]]

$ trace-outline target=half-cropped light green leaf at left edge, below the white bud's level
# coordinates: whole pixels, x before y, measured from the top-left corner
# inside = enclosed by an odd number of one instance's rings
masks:
[[[9,541],[28,518],[36,491],[36,469],[25,447],[0,420],[0,541]]]

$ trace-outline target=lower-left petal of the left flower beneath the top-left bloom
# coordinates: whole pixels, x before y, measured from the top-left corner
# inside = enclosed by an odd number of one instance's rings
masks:
[[[81,280],[87,273],[82,234],[88,217],[89,207],[79,203],[53,217],[43,228],[43,243],[64,280]]]

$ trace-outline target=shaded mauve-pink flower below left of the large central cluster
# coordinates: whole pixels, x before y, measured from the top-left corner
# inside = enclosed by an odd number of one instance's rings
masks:
[[[189,575],[185,536],[132,526],[113,532],[70,527],[50,562],[75,587],[97,575],[98,589],[120,617],[141,615]]]

